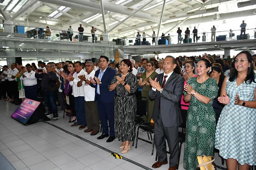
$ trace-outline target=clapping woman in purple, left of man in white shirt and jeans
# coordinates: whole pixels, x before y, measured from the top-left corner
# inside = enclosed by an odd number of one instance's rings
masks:
[[[75,65],[74,63],[72,62],[69,62],[69,64],[67,65],[67,68],[68,68],[68,73],[63,73],[61,72],[61,77],[63,77],[63,80],[64,80],[64,84],[65,84],[65,95],[66,95],[66,101],[67,101],[67,104],[66,104],[66,107],[67,107],[67,110],[71,110],[71,113],[72,113],[72,119],[68,122],[75,122],[77,121],[77,117],[76,117],[76,110],[75,110],[75,101],[74,101],[74,96],[72,95],[72,86],[69,85],[69,81],[67,80],[67,77],[69,75],[73,76],[73,74],[75,73]],[[69,102],[69,103],[68,103]]]

